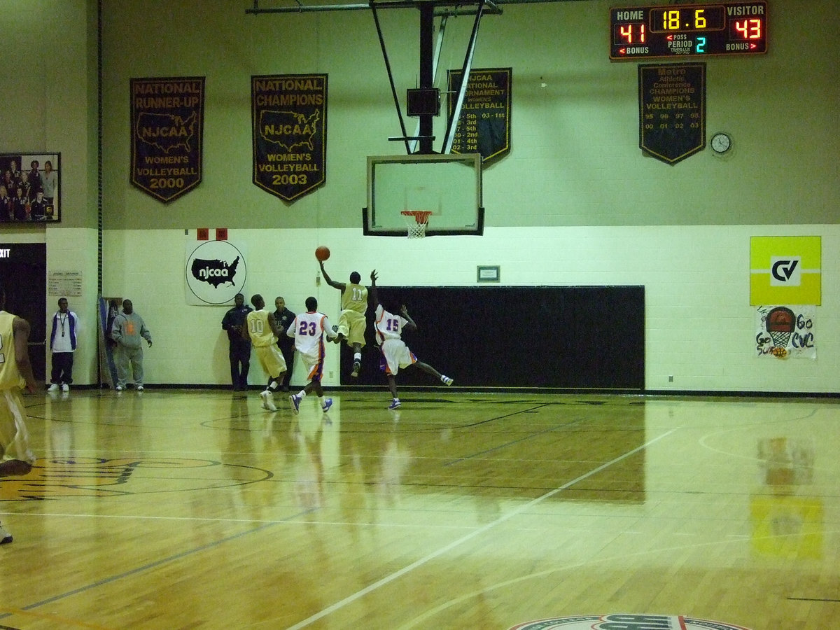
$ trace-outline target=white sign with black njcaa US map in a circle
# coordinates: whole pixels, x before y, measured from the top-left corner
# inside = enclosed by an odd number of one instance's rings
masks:
[[[226,240],[187,244],[186,286],[190,304],[225,304],[242,292],[248,275],[243,253]]]

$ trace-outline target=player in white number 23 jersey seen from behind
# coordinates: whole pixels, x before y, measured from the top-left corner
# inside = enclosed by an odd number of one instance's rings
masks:
[[[301,354],[303,365],[307,369],[309,382],[297,394],[289,396],[291,411],[297,414],[301,401],[307,395],[315,392],[324,413],[333,406],[332,398],[324,398],[321,378],[323,376],[324,337],[335,339],[333,327],[323,312],[318,312],[318,300],[307,297],[307,312],[298,313],[286,334],[295,339],[295,349]]]

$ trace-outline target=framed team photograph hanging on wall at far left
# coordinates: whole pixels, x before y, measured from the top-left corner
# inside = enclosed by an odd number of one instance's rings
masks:
[[[60,153],[0,153],[0,223],[59,222],[60,181]]]

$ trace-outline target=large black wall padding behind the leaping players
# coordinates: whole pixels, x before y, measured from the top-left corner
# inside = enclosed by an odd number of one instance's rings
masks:
[[[644,389],[643,286],[378,288],[387,310],[405,304],[417,323],[402,337],[417,359],[454,386]],[[372,317],[369,309],[359,379],[349,376],[352,353],[342,344],[345,385],[386,383]],[[416,366],[396,383],[437,384]]]

